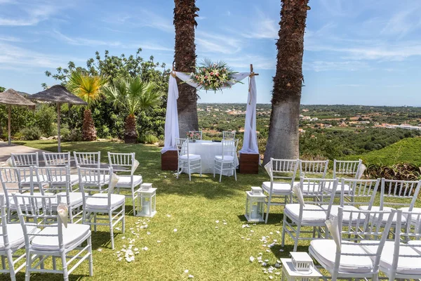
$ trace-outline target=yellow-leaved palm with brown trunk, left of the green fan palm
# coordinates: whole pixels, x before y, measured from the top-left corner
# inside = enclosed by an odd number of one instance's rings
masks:
[[[85,75],[80,71],[72,72],[67,81],[67,89],[88,103],[83,112],[82,134],[85,141],[95,141],[97,138],[91,109],[102,97],[101,88],[106,83],[107,79]]]

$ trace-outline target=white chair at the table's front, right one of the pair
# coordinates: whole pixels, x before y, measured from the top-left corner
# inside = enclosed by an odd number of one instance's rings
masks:
[[[233,173],[236,180],[236,151],[239,145],[239,140],[222,140],[222,155],[215,155],[213,164],[213,177],[215,178],[215,172],[218,171],[220,174],[220,182],[222,180],[222,174],[224,171]]]

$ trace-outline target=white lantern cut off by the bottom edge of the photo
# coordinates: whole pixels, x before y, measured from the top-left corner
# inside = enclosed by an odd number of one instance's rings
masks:
[[[281,259],[282,280],[316,281],[323,275],[313,265],[313,260],[305,252],[291,252],[292,259]]]

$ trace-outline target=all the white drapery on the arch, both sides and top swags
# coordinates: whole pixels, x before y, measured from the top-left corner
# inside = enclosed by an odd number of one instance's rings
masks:
[[[163,148],[161,153],[168,150],[177,150],[175,145],[175,138],[179,138],[178,132],[178,112],[177,112],[177,99],[178,99],[178,86],[175,77],[180,78],[185,83],[198,88],[199,85],[190,80],[189,74],[184,72],[171,72],[170,79],[168,81],[168,99],[167,99],[167,110],[165,117],[165,135]],[[258,149],[258,136],[256,133],[256,101],[257,101],[257,89],[255,83],[255,74],[253,72],[239,72],[234,74],[234,81],[241,81],[244,78],[249,77],[248,81],[248,98],[246,108],[246,122],[244,125],[244,139],[243,148],[241,153],[259,153]],[[230,83],[231,85],[236,82]]]

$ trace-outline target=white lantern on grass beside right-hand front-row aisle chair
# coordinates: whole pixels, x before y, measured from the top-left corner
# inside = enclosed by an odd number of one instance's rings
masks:
[[[265,221],[265,198],[262,188],[252,187],[246,191],[246,216],[247,221],[260,223]]]

